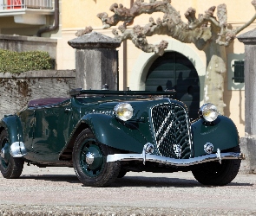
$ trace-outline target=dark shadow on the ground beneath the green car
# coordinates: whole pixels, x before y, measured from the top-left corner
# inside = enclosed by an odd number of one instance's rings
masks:
[[[42,181],[63,181],[75,184],[81,184],[76,175],[22,175],[21,179],[33,179]],[[248,186],[253,184],[246,182],[235,182],[235,180],[228,184],[228,186]],[[82,187],[84,187],[82,185]],[[109,187],[213,187],[200,184],[193,179],[184,178],[167,178],[167,177],[145,177],[145,176],[124,176],[116,179]]]

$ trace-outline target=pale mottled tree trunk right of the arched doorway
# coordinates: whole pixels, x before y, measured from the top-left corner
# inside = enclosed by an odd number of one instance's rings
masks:
[[[224,79],[226,75],[226,48],[213,40],[204,48],[207,55],[204,102],[216,105],[221,114],[226,106],[223,101]]]

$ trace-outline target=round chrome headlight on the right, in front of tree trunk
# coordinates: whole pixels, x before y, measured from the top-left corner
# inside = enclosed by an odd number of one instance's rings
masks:
[[[204,118],[207,122],[213,122],[219,116],[217,107],[211,103],[202,105],[199,110],[200,118]]]

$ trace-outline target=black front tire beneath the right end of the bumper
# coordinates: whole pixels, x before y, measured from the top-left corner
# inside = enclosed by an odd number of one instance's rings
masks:
[[[226,150],[226,152],[240,152],[240,146]],[[194,178],[203,185],[223,186],[236,177],[240,170],[240,160],[222,160],[220,162],[206,162],[197,165],[192,170]]]

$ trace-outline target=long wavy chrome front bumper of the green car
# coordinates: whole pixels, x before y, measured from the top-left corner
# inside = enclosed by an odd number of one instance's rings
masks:
[[[130,161],[146,161],[146,162],[158,162],[161,164],[167,164],[172,166],[178,167],[187,167],[195,164],[200,164],[203,162],[220,162],[221,160],[235,160],[240,159],[244,160],[245,156],[242,153],[236,152],[227,152],[218,154],[211,154],[207,156],[198,156],[189,159],[174,159],[165,156],[155,156],[147,154],[146,158],[142,154],[115,154],[115,155],[108,155],[107,162],[130,162]]]

